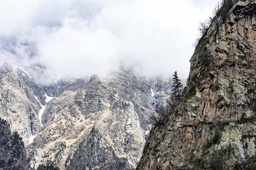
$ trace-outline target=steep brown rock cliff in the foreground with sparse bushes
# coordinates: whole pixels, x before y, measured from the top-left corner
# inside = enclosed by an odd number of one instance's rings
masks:
[[[256,1],[225,1],[192,56],[186,93],[137,169],[255,169]]]

